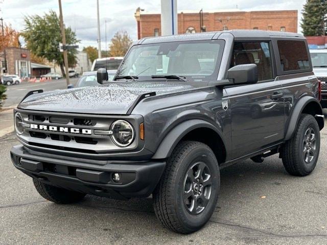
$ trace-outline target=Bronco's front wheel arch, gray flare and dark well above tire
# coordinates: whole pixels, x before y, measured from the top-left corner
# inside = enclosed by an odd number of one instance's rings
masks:
[[[215,153],[218,163],[226,159],[225,142],[221,132],[215,126],[201,119],[187,120],[176,126],[162,140],[152,159],[169,157],[178,142],[193,140],[207,144]]]

